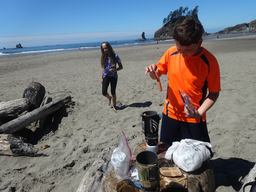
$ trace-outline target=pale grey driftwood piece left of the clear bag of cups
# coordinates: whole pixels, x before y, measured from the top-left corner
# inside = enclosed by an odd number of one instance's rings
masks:
[[[85,173],[76,192],[102,192],[102,180],[104,180],[107,172],[113,170],[111,155],[114,149],[114,147],[108,147],[100,153],[91,168]]]

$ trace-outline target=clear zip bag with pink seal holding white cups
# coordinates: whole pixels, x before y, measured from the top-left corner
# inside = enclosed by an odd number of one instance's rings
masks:
[[[125,179],[128,176],[131,159],[132,152],[122,131],[122,138],[111,156],[111,164],[116,174],[115,178]]]

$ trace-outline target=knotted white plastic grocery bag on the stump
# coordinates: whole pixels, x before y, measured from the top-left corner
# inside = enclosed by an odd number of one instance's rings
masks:
[[[212,148],[208,142],[182,139],[180,142],[172,143],[165,154],[166,159],[173,158],[173,162],[186,172],[195,171],[202,166],[202,163],[211,158],[210,151],[205,147]]]

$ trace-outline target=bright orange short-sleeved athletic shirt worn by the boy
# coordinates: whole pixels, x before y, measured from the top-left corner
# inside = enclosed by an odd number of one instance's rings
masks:
[[[198,109],[204,102],[207,89],[220,92],[220,69],[216,58],[206,49],[188,59],[182,57],[176,46],[171,47],[157,63],[158,71],[168,72],[168,86],[164,114],[180,121],[199,123],[206,120],[206,114],[199,119],[188,118],[179,90],[187,93]]]

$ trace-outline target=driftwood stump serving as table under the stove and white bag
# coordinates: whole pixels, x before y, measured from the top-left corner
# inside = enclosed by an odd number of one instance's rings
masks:
[[[130,169],[133,165],[136,165],[136,156],[141,151],[145,151],[146,148],[146,141],[140,143],[136,146],[136,148],[132,152],[132,161],[130,162]],[[159,158],[164,158],[167,149],[170,147],[169,145],[159,142],[159,148],[165,148],[165,150],[160,150],[156,154]],[[177,167],[173,161],[172,166]],[[191,191],[191,192],[212,192],[215,191],[215,180],[213,176],[213,170],[209,161],[205,161],[202,167],[193,172],[185,172],[180,169],[180,171],[184,174],[187,174],[187,189],[178,189],[172,187],[165,187],[164,180],[160,180],[160,190],[161,192],[168,192],[168,191]],[[115,172],[110,171],[106,175],[103,183],[102,183],[102,191],[103,192],[113,192],[116,190],[117,183],[121,181],[121,179],[115,179]],[[104,184],[104,185],[103,185]],[[141,190],[139,190],[141,191]]]

